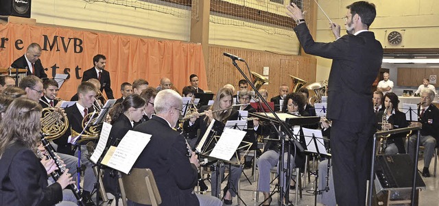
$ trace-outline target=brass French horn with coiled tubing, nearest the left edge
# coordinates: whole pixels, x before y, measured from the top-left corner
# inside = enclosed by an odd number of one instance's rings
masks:
[[[45,133],[46,140],[60,138],[69,127],[69,119],[58,108],[46,107],[41,112],[41,132]]]

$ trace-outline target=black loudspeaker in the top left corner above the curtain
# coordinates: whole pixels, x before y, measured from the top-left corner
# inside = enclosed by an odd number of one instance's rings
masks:
[[[0,15],[30,18],[32,0],[0,0]]]

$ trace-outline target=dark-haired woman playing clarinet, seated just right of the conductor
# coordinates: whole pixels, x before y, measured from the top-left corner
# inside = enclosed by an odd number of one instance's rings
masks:
[[[384,110],[375,113],[375,129],[389,130],[408,127],[409,123],[405,120],[405,114],[398,110],[398,96],[393,92],[387,92],[384,95]],[[385,122],[383,123],[383,119]],[[396,153],[405,153],[404,140],[406,133],[392,134],[385,142],[385,154],[394,155]]]

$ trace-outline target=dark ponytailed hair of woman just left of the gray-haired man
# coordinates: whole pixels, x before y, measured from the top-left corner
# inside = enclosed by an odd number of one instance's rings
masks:
[[[117,103],[114,105],[110,111],[111,123],[115,123],[123,112],[126,112],[130,107],[134,109],[139,109],[145,107],[145,99],[141,98],[139,94],[130,94],[122,103]]]

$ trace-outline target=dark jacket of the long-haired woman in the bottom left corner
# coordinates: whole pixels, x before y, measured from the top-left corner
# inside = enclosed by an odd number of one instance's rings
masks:
[[[59,183],[47,186],[47,172],[35,153],[16,142],[0,159],[0,205],[45,206],[62,201]]]

